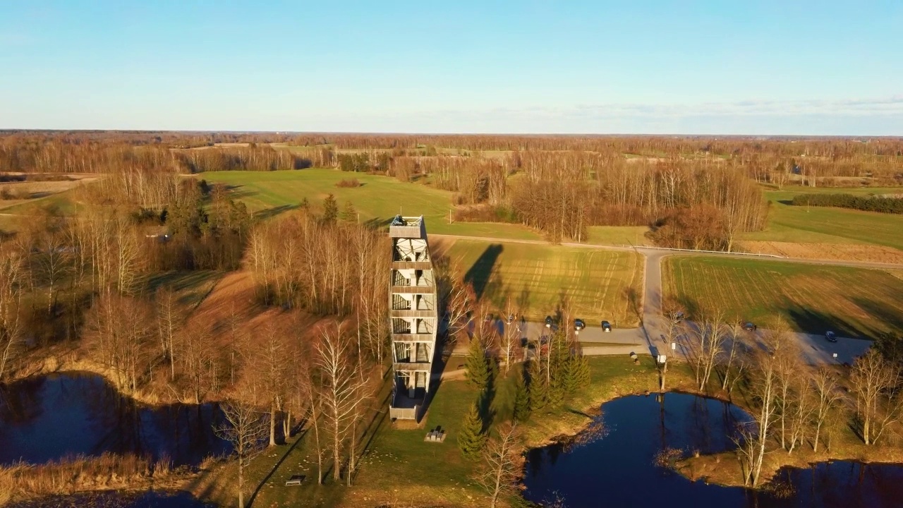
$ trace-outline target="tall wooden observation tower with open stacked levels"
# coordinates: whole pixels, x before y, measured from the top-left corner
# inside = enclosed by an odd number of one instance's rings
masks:
[[[439,325],[436,280],[424,217],[397,215],[389,225],[392,274],[389,320],[395,381],[389,416],[421,417],[430,390]]]

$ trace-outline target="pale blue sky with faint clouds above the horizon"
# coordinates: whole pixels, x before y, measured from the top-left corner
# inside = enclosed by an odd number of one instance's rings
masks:
[[[0,0],[0,128],[903,136],[903,3]]]

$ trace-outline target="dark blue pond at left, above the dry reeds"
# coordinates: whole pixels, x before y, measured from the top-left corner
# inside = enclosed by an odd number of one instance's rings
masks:
[[[94,374],[41,376],[0,387],[0,464],[112,452],[193,466],[228,453],[213,432],[221,419],[214,404],[136,404]]]

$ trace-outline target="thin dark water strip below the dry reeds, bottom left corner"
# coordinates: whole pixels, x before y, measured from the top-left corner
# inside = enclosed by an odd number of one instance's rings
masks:
[[[188,493],[84,493],[42,497],[21,503],[7,504],[8,508],[211,508],[216,504],[201,503]]]

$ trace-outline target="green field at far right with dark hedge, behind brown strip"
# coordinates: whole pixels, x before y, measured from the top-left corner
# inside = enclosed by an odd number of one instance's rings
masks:
[[[900,193],[901,188],[792,188],[768,191],[771,201],[765,230],[746,233],[743,240],[799,243],[865,243],[903,249],[903,215],[842,208],[792,206],[801,193]]]

